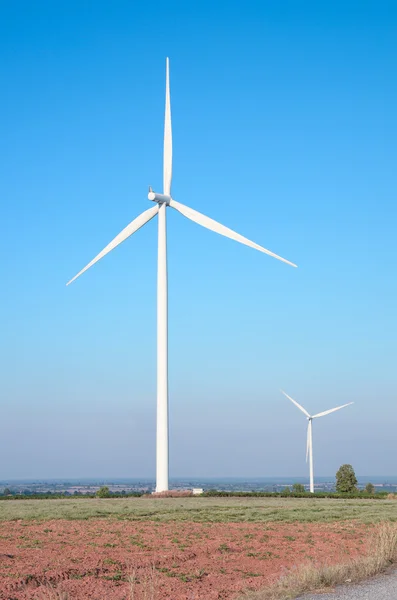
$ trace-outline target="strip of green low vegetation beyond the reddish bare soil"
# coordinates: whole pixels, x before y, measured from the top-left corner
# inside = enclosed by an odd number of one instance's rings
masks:
[[[0,521],[113,518],[134,521],[332,522],[397,520],[393,500],[305,498],[128,498],[9,500]]]

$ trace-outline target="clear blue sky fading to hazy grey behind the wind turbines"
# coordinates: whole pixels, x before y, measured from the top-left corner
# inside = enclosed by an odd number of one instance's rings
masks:
[[[0,4],[0,478],[154,476],[162,185],[170,470],[396,474],[395,2]]]

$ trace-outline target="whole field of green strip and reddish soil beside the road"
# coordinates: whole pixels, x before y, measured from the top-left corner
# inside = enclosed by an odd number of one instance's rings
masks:
[[[383,501],[252,500],[2,502],[0,598],[232,599],[302,562],[363,554],[370,515],[397,517]]]

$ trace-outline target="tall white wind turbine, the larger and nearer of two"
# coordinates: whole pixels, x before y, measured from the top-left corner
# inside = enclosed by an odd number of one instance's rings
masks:
[[[168,310],[167,310],[167,244],[166,244],[166,209],[174,208],[191,221],[202,225],[220,235],[236,240],[241,244],[255,248],[269,256],[273,256],[288,265],[296,267],[289,260],[266,250],[251,242],[228,227],[213,219],[177,202],[171,196],[172,178],[172,130],[170,106],[169,60],[166,59],[165,90],[165,124],[164,124],[164,158],[163,158],[163,193],[158,194],[149,187],[148,198],[155,206],[145,210],[131,221],[84,269],[82,269],[66,285],[77,279],[98,260],[124,242],[148,221],[158,215],[158,265],[157,265],[157,431],[156,431],[156,492],[168,490]]]

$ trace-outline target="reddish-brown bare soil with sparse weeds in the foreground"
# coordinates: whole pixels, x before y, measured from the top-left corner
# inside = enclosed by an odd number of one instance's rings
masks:
[[[0,598],[230,599],[299,563],[363,554],[367,535],[354,523],[5,522]]]

